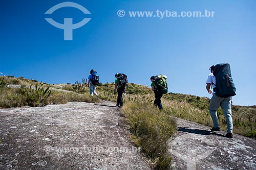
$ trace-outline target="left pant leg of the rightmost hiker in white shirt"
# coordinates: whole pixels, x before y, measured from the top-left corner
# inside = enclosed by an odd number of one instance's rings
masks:
[[[214,123],[214,128],[219,127],[218,123],[218,117],[217,117],[217,110],[220,106],[221,99],[216,94],[212,94],[212,97],[210,99],[210,106],[209,106],[209,112],[212,119],[212,123]]]

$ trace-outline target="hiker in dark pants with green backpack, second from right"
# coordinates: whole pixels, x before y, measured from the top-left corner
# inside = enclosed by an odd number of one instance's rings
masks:
[[[168,92],[168,86],[166,83],[167,76],[157,75],[152,76],[151,80],[151,89],[155,93],[155,101],[154,106],[158,107],[159,109],[163,109],[161,98],[163,94]]]

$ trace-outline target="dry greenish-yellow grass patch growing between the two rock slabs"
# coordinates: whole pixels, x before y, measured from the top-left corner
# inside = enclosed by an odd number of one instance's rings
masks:
[[[153,168],[168,169],[172,159],[167,155],[167,140],[177,131],[175,119],[146,102],[128,102],[122,112],[131,126],[131,139]]]

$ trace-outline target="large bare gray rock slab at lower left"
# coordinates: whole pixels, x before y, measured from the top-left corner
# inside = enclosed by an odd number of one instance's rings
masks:
[[[150,169],[111,102],[0,109],[0,169]]]

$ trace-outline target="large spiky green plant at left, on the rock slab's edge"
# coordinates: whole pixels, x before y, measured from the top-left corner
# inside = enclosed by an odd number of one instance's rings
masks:
[[[20,88],[20,93],[26,96],[26,102],[29,106],[32,107],[41,107],[46,106],[48,102],[48,98],[52,93],[50,87],[45,88],[44,85],[46,83],[40,82],[39,85],[25,87],[22,86]]]

